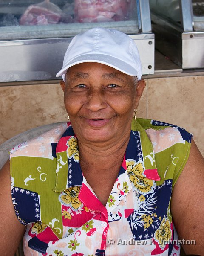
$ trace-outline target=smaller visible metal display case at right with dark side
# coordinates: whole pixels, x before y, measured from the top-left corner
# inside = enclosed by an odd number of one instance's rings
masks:
[[[183,69],[204,67],[204,1],[150,0],[155,47]]]

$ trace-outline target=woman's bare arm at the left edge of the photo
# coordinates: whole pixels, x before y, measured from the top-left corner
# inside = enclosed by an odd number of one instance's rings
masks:
[[[9,161],[0,170],[0,255],[13,256],[23,237],[25,226],[18,221],[11,198]]]

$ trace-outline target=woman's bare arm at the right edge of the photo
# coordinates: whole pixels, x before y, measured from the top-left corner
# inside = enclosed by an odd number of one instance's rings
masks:
[[[171,210],[178,238],[196,243],[182,245],[185,253],[204,255],[204,159],[193,140],[189,159],[173,188]]]

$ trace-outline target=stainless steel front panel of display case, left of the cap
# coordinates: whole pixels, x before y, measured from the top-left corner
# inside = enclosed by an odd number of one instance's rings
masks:
[[[0,42],[0,82],[56,79],[72,38]]]

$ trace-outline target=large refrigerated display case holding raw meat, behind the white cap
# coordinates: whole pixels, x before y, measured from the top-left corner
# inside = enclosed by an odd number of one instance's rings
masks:
[[[57,79],[71,39],[96,26],[130,35],[142,73],[154,73],[148,0],[2,0],[0,82]]]

